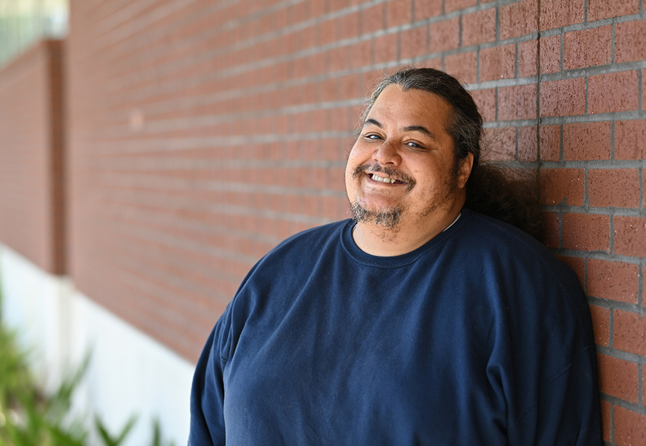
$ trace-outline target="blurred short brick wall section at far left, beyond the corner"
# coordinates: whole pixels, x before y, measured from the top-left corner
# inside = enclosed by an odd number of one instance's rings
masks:
[[[49,273],[65,270],[61,41],[0,69],[0,240]]]

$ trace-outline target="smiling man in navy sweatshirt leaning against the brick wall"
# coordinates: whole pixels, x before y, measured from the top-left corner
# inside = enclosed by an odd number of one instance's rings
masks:
[[[189,445],[600,445],[585,298],[471,210],[509,201],[480,190],[481,131],[440,71],[378,86],[345,171],[353,219],[248,273],[197,365]]]

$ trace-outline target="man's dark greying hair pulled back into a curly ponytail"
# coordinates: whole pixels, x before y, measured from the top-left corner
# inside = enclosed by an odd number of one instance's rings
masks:
[[[541,238],[538,176],[521,174],[505,166],[480,161],[483,117],[473,97],[460,82],[443,71],[405,68],[383,78],[368,99],[362,124],[380,93],[389,85],[429,91],[450,103],[453,113],[446,124],[455,145],[455,166],[473,153],[473,168],[466,186],[465,208],[505,221]]]

